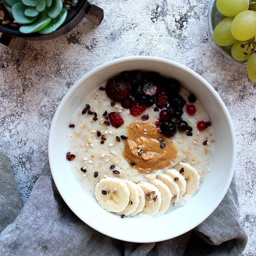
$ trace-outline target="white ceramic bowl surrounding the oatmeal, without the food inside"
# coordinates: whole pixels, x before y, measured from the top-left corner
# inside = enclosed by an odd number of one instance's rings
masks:
[[[67,129],[84,97],[102,82],[124,70],[155,71],[179,80],[200,99],[216,136],[212,170],[185,206],[157,217],[120,216],[107,212],[76,180],[66,160]],[[56,110],[49,135],[49,162],[54,182],[68,207],[85,223],[116,239],[151,243],[167,240],[195,228],[218,206],[226,194],[235,168],[235,132],[229,112],[216,91],[188,67],[163,58],[138,56],[110,61],[77,81]]]

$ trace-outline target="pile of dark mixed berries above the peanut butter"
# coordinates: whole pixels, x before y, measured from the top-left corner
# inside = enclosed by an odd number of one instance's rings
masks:
[[[121,101],[123,108],[129,108],[131,115],[141,115],[147,107],[155,104],[154,111],[159,111],[159,121],[156,126],[162,134],[170,137],[177,129],[191,133],[191,127],[182,120],[183,107],[186,100],[179,94],[179,81],[166,78],[155,72],[138,70],[124,71],[112,78],[106,85],[108,96],[115,101]],[[189,95],[189,102],[195,101],[195,95]],[[195,106],[187,104],[189,115],[196,112]],[[173,121],[175,120],[175,121]]]

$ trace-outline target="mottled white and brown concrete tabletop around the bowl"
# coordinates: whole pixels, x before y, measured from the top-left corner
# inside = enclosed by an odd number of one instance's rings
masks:
[[[94,3],[105,10],[100,27],[83,20],[58,39],[28,42],[21,52],[0,46],[0,148],[11,159],[23,202],[44,172],[51,120],[68,88],[106,61],[165,57],[201,74],[229,109],[236,129],[241,221],[249,235],[243,255],[256,255],[256,86],[245,67],[216,49],[208,30],[209,1]]]

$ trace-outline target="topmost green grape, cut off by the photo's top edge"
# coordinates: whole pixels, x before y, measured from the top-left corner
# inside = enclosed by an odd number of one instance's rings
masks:
[[[220,13],[228,17],[235,17],[249,8],[249,0],[217,0],[216,7]]]

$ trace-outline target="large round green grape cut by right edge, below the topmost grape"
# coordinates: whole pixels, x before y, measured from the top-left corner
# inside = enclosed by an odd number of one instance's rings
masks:
[[[256,12],[243,11],[234,18],[231,33],[239,41],[246,41],[256,35]]]

